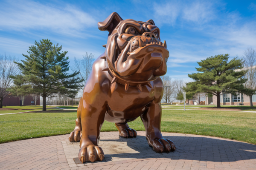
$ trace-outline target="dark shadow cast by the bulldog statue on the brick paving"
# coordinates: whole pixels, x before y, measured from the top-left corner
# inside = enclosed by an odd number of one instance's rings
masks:
[[[166,139],[170,139],[175,143],[176,150],[174,152],[154,152],[154,150],[149,147],[145,136],[137,136],[136,138],[129,139],[119,137],[119,139],[105,139],[101,141],[105,142],[106,144],[108,144],[108,142],[113,144],[109,149],[112,151],[116,149],[117,151],[117,153],[114,154],[109,154],[108,152],[105,152],[106,161],[111,161],[111,159],[113,158],[117,158],[118,160],[171,158],[215,162],[256,159],[256,145],[254,144],[210,137],[163,137]],[[114,142],[117,143],[115,144]],[[129,148],[120,146],[120,144],[118,144],[119,142],[127,142],[127,146]],[[105,147],[108,148],[108,146]],[[121,151],[121,153],[119,151]]]

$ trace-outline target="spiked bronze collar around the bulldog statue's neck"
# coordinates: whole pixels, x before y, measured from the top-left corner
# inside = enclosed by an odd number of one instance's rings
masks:
[[[137,87],[140,91],[142,91],[142,86],[144,85],[147,85],[149,88],[153,88],[152,85],[151,85],[151,81],[154,81],[156,80],[157,78],[155,79],[152,79],[150,81],[131,81],[131,80],[126,80],[126,79],[123,79],[121,78],[120,76],[118,76],[113,70],[111,67],[109,67],[109,64],[108,64],[108,61],[106,59],[106,56],[102,56],[100,57],[101,59],[105,59],[105,68],[102,70],[102,71],[108,71],[108,73],[111,73],[111,77],[113,77],[112,81],[111,81],[111,84],[113,84],[114,82],[118,82],[122,85],[125,85],[125,91],[128,91],[128,88],[129,87]]]

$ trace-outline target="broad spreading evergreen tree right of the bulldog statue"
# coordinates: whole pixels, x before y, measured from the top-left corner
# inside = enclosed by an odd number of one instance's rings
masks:
[[[197,62],[200,66],[196,68],[198,73],[188,74],[194,82],[186,83],[184,90],[186,92],[202,92],[217,96],[217,107],[221,107],[220,94],[223,90],[226,93],[235,94],[244,89],[244,82],[247,79],[242,78],[246,71],[235,71],[243,68],[242,59],[237,57],[229,59],[229,54],[215,55]]]

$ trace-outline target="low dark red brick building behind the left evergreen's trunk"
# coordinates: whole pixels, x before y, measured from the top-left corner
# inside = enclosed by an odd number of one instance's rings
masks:
[[[20,101],[20,97],[15,97],[12,95],[8,95],[3,99],[3,105],[7,106],[20,106],[22,102]],[[35,101],[32,96],[26,96],[24,99],[24,105],[35,105]],[[40,99],[36,101],[36,105],[40,105]]]

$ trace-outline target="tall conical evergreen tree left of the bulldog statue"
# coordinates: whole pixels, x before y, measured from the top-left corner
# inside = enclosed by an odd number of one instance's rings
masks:
[[[46,111],[46,97],[52,94],[65,94],[69,89],[80,88],[79,72],[69,71],[69,57],[62,46],[53,45],[50,40],[35,41],[29,47],[28,54],[22,54],[26,59],[15,62],[22,73],[27,85],[31,85],[32,94],[43,97],[43,111]],[[14,77],[17,79],[18,77]]]

